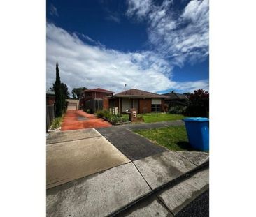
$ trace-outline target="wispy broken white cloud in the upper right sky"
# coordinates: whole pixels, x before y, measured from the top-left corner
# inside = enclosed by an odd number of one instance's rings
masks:
[[[173,10],[171,0],[159,6],[150,0],[127,2],[127,15],[148,22],[150,43],[173,64],[181,67],[185,61],[196,63],[208,57],[208,0],[192,0],[181,11]]]

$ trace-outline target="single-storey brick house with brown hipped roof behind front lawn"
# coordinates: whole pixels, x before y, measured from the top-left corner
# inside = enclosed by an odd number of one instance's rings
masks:
[[[105,108],[118,107],[118,113],[125,113],[130,108],[135,108],[138,113],[164,112],[164,99],[166,96],[142,91],[139,89],[129,89],[116,93],[111,97],[104,98]]]

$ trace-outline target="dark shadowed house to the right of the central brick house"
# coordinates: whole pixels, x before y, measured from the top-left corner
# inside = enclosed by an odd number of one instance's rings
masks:
[[[170,107],[173,106],[186,106],[187,105],[187,96],[185,94],[180,94],[180,93],[164,93],[162,94],[163,96],[166,96],[164,99],[164,107],[166,110],[169,110]]]

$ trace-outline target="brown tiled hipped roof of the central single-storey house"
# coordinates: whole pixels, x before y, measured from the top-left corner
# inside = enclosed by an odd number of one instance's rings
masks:
[[[166,96],[157,93],[141,91],[139,89],[129,89],[127,91],[122,91],[120,93],[116,93],[113,97],[166,98]]]

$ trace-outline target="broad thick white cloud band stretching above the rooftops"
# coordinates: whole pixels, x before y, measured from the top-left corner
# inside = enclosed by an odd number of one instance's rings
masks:
[[[47,24],[47,89],[55,82],[55,64],[59,63],[62,82],[71,92],[74,87],[101,87],[118,93],[136,87],[145,91],[161,91],[192,87],[171,80],[172,66],[154,52],[120,52],[99,45],[83,43],[76,33],[68,33],[54,24]],[[85,37],[85,36],[84,36]],[[87,37],[85,37],[87,38]],[[93,40],[87,38],[87,40]],[[202,88],[202,87],[199,88]]]

